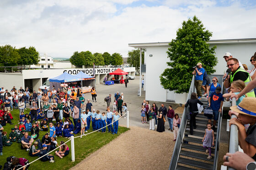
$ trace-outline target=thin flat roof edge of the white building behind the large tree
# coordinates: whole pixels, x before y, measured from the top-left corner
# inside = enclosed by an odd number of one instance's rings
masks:
[[[128,44],[129,47],[134,48],[146,48],[146,47],[157,47],[157,46],[169,46],[170,42],[153,42],[153,43],[132,43]],[[227,40],[209,40],[208,44],[245,44],[245,43],[256,43],[256,38],[247,39],[227,39]]]

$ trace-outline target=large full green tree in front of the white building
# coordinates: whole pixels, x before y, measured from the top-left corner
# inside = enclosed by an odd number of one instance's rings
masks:
[[[198,62],[203,64],[208,74],[215,72],[213,67],[218,63],[214,55],[216,46],[209,48],[207,43],[211,36],[212,32],[206,30],[196,16],[183,21],[182,28],[177,30],[176,39],[171,40],[167,51],[171,60],[167,65],[171,68],[165,69],[160,75],[161,85],[165,89],[187,93],[192,80],[192,66]]]

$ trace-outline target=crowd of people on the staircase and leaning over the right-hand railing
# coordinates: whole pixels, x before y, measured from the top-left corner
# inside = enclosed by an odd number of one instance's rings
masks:
[[[197,93],[192,93],[191,99],[187,101],[186,106],[190,111],[190,133],[193,134],[193,128],[196,128],[195,116],[198,114],[197,103],[203,105],[200,101],[202,96],[208,98],[208,106],[213,110],[213,117],[208,117],[207,129],[203,137],[203,147],[209,153],[207,159],[211,159],[211,147],[214,146],[214,131],[216,130],[216,120],[223,105],[224,99],[227,101],[235,97],[236,105],[230,107],[229,115],[236,115],[232,118],[229,125],[238,127],[239,145],[244,153],[227,153],[224,155],[224,165],[233,167],[237,170],[256,168],[256,53],[251,56],[252,70],[248,70],[247,65],[242,64],[238,59],[226,52],[224,60],[227,63],[227,73],[223,75],[224,87],[226,93],[222,94],[218,79],[213,77],[213,83],[208,80],[208,75],[203,69],[202,63],[197,63],[193,75],[195,77],[195,87]],[[206,82],[206,84],[204,83]],[[202,90],[205,94],[202,94]],[[213,125],[212,125],[213,119]],[[243,160],[243,161],[240,161]]]

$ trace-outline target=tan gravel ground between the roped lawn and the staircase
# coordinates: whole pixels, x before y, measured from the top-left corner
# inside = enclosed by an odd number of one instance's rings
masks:
[[[131,127],[71,169],[166,170],[175,145],[172,140],[172,133]]]

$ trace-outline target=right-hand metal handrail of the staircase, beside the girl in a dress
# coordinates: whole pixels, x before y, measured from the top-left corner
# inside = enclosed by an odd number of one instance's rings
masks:
[[[221,85],[221,89],[223,90],[223,83]],[[222,124],[222,113],[223,113],[223,105],[221,108],[221,112],[219,112],[218,117],[218,128],[217,128],[217,134],[216,134],[216,142],[215,142],[215,151],[214,151],[214,159],[213,159],[213,170],[217,170],[218,168],[218,157],[219,157],[219,143],[220,143],[220,128]]]

